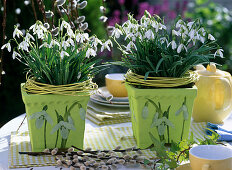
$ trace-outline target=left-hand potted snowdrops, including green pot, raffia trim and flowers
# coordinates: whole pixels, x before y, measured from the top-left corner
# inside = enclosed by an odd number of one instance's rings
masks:
[[[97,88],[92,78],[101,69],[95,66],[97,52],[112,46],[64,20],[56,29],[53,34],[37,21],[24,35],[16,26],[13,39],[2,46],[11,51],[14,43],[13,59],[26,65],[21,91],[33,151],[83,147],[86,106]]]

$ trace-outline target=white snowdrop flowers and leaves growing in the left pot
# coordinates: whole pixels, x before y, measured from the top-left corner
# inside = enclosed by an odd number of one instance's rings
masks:
[[[30,77],[37,82],[63,85],[83,82],[99,71],[94,65],[98,51],[110,50],[110,40],[101,41],[89,36],[81,29],[73,31],[66,21],[49,31],[42,22],[37,21],[25,35],[15,27],[13,39],[2,46],[11,51],[13,59],[26,65]]]

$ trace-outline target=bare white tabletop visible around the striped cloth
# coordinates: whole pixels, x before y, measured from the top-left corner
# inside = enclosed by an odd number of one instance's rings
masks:
[[[18,127],[20,126],[21,122],[23,121],[23,118],[25,117],[25,114],[22,114],[11,121],[9,121],[7,124],[5,124],[0,129],[0,170],[7,170],[8,168],[8,153],[9,153],[9,143],[10,143],[10,134],[12,131],[16,131]],[[229,128],[232,130],[232,114],[224,121],[224,125],[229,126]],[[114,125],[105,125],[105,126],[111,126],[111,127],[128,127],[132,126],[131,123],[121,123],[121,124],[114,124]],[[99,128],[103,126],[98,126],[92,123],[91,121],[86,119],[85,128],[86,129],[94,129]],[[28,131],[27,127],[27,119],[25,119],[23,125],[20,127],[19,132],[25,132]],[[230,145],[232,145],[232,142],[230,142]],[[30,168],[17,168],[17,170],[29,170]],[[47,167],[34,167],[34,170],[58,170],[59,168],[55,168],[54,166],[47,166]],[[68,169],[68,168],[63,168]],[[125,168],[120,167],[120,170],[134,170],[134,169],[141,169],[141,168]]]

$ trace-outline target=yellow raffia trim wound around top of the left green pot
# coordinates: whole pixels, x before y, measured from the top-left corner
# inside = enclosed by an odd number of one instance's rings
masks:
[[[60,94],[67,96],[90,96],[98,88],[91,79],[81,83],[67,85],[50,85],[28,78],[25,83],[25,91],[32,94]]]

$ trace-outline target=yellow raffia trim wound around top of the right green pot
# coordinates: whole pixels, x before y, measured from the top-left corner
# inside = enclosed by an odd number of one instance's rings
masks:
[[[198,80],[198,74],[194,71],[188,71],[181,78],[173,77],[147,77],[144,80],[144,76],[133,73],[129,70],[126,75],[126,82],[131,85],[141,85],[148,87],[178,87],[195,83]]]

